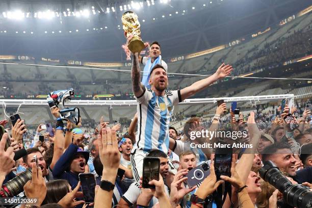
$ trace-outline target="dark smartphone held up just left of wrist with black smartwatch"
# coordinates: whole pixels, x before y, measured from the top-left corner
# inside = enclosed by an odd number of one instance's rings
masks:
[[[94,202],[95,197],[95,178],[92,173],[79,173],[81,188],[84,194],[84,200],[87,204]]]

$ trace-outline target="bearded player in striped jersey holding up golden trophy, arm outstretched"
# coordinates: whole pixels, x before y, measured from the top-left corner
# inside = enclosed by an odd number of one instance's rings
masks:
[[[140,74],[139,53],[140,49],[144,48],[144,43],[140,40],[138,16],[134,12],[125,12],[122,24],[128,39],[131,34],[134,35],[132,39],[129,39],[128,46],[133,53],[131,79],[133,92],[138,101],[138,134],[131,153],[131,163],[134,178],[139,181],[146,154],[152,149],[168,152],[169,123],[173,106],[229,75],[232,66],[223,63],[213,75],[197,81],[189,87],[166,91],[168,87],[167,71],[164,66],[156,64],[149,72],[148,84],[151,88],[147,89],[141,82]],[[139,41],[141,43],[138,43]]]

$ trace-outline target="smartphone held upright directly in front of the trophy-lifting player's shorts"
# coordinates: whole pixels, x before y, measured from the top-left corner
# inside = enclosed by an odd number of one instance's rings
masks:
[[[159,180],[160,160],[159,158],[145,157],[143,159],[143,180],[142,187],[154,189],[154,185],[149,185],[151,180]]]

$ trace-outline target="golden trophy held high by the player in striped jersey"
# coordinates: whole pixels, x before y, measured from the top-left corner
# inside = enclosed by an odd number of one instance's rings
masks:
[[[121,17],[123,30],[127,37],[133,35],[133,38],[128,42],[129,50],[134,53],[140,53],[144,48],[144,43],[141,40],[140,22],[138,15],[133,11],[126,11]]]

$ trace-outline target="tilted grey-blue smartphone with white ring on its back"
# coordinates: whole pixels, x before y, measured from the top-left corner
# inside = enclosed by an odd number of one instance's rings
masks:
[[[210,166],[208,163],[205,162],[188,172],[188,174],[186,175],[186,177],[188,177],[187,184],[190,188],[192,188],[197,184],[201,183],[209,175]]]

